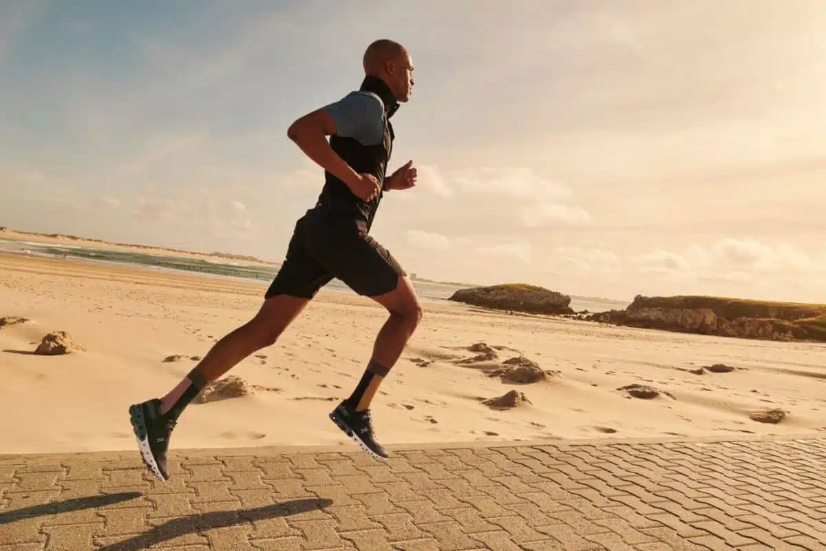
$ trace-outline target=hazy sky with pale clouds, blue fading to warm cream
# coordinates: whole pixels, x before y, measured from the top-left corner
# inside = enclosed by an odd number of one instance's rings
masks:
[[[406,45],[409,272],[826,302],[826,2],[0,0],[0,226],[282,261],[287,127]]]

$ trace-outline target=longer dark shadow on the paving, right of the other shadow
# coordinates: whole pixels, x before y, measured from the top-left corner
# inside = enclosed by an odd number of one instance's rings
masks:
[[[126,541],[98,548],[97,551],[133,551],[134,549],[147,549],[152,545],[186,534],[197,534],[203,530],[242,525],[250,520],[266,520],[279,516],[298,515],[300,513],[323,509],[332,503],[333,501],[329,499],[297,499],[275,505],[257,507],[255,509],[213,511],[200,515],[182,516],[178,519],[168,520],[162,525],[154,526],[152,530],[145,534],[136,535],[130,539],[126,539]]]

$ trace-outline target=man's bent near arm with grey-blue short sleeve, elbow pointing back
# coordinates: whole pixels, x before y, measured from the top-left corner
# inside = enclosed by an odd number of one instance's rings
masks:
[[[322,169],[352,188],[358,173],[335,153],[327,142],[327,136],[344,135],[364,144],[381,140],[383,126],[378,126],[377,135],[376,119],[379,125],[383,125],[383,111],[375,98],[365,94],[349,94],[339,102],[301,116],[289,127],[287,137]]]

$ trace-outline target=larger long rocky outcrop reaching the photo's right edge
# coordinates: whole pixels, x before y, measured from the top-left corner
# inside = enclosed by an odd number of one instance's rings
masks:
[[[826,341],[826,306],[720,297],[634,297],[589,321],[763,340]]]

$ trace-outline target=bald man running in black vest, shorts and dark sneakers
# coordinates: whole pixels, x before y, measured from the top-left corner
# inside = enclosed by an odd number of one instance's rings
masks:
[[[207,383],[274,344],[333,278],[372,298],[390,316],[378,332],[363,377],[330,412],[330,419],[373,457],[388,457],[373,435],[370,404],[419,325],[422,311],[405,270],[369,231],[384,192],[416,183],[412,161],[386,177],[395,137],[389,119],[399,103],[411,97],[413,65],[404,46],[376,40],[365,50],[363,66],[358,90],[301,116],[287,131],[290,140],[325,170],[325,183],[315,207],[297,221],[284,263],[259,311],[217,341],[166,396],[129,408],[140,454],[161,480],[169,479],[169,437],[184,408]]]

